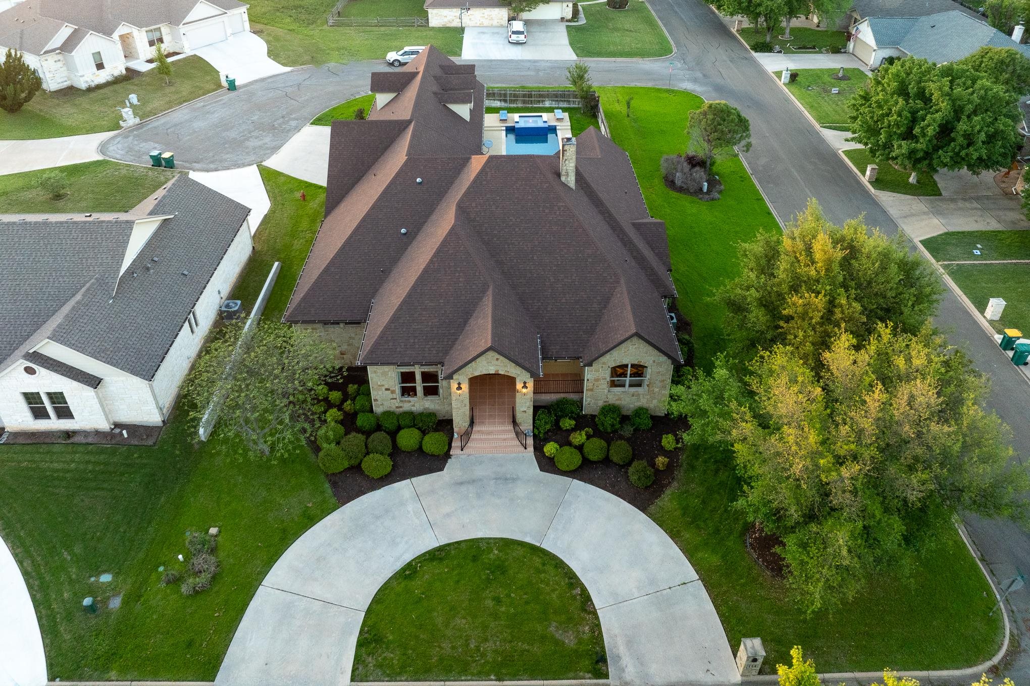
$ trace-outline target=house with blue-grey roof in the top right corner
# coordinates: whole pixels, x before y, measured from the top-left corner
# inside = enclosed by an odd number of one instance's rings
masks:
[[[914,56],[936,64],[955,62],[981,47],[1015,47],[1030,58],[1030,45],[1021,45],[986,22],[950,10],[929,16],[870,16],[852,32],[849,50],[878,68],[885,58]]]

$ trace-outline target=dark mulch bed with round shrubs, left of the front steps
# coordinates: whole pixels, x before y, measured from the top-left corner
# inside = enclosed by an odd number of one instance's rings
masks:
[[[343,393],[343,399],[347,399],[347,386],[350,384],[357,384],[358,386],[369,383],[369,376],[367,371],[363,367],[347,367],[340,370],[342,376],[339,381],[327,384],[330,391],[340,391]],[[329,402],[327,401],[327,405]],[[340,424],[343,426],[344,430],[349,433],[360,433],[357,431],[357,427],[354,426],[354,422],[357,419],[357,412],[347,414],[344,412],[343,420]],[[435,431],[441,431],[447,436],[452,436],[454,434],[453,425],[450,420],[443,419],[437,422],[437,428]],[[366,436],[367,438],[368,436]],[[390,434],[390,439],[397,440],[397,432]],[[314,440],[308,441],[314,455],[318,455],[318,444]],[[390,450],[389,459],[393,461],[393,469],[390,473],[382,478],[374,479],[366,475],[362,471],[362,468],[350,467],[343,470],[342,472],[337,472],[336,474],[325,474],[325,478],[329,480],[330,488],[333,489],[333,495],[336,497],[337,502],[340,505],[346,505],[352,500],[360,498],[367,493],[372,493],[373,491],[378,491],[384,485],[389,485],[390,483],[397,483],[398,481],[403,481],[405,479],[414,478],[415,476],[422,476],[423,474],[433,474],[434,472],[443,471],[444,467],[447,465],[448,457],[444,456],[434,456],[423,453],[421,449],[415,450],[414,453],[405,453],[399,450],[397,445],[393,445],[393,449]]]

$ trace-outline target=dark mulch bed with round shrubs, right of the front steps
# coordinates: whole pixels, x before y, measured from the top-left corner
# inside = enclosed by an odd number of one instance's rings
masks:
[[[544,408],[537,407],[536,409],[540,410]],[[625,419],[628,419],[628,417]],[[662,434],[676,434],[679,431],[685,430],[688,426],[687,421],[671,420],[667,417],[652,417],[651,421],[653,424],[650,429],[647,431],[634,431],[632,436],[624,438],[618,432],[609,434],[598,431],[595,420],[596,418],[593,416],[584,414],[576,420],[576,428],[572,431],[562,431],[557,427],[557,423],[555,423],[555,427],[548,431],[547,435],[543,438],[534,436],[533,452],[537,458],[537,466],[542,472],[569,476],[596,486],[602,491],[607,491],[613,496],[626,501],[642,512],[646,511],[661,497],[665,489],[676,480],[676,469],[680,464],[682,449],[664,449],[661,446],[661,436]],[[586,458],[583,458],[583,464],[578,469],[574,469],[571,472],[561,471],[554,466],[554,460],[544,455],[544,444],[554,441],[558,445],[570,445],[569,434],[585,427],[593,429],[591,438],[604,438],[605,442],[609,445],[612,444],[613,440],[625,440],[633,448],[633,460],[647,460],[647,463],[652,467],[654,467],[654,459],[659,455],[663,455],[668,458],[668,467],[663,470],[656,469],[654,471],[654,483],[646,489],[638,489],[629,482],[629,475],[627,474],[629,465],[617,465],[608,459],[602,462],[590,462]],[[582,447],[582,445],[579,446],[581,453]]]

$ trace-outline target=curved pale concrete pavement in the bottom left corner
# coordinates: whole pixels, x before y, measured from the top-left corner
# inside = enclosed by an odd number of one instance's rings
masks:
[[[22,571],[0,539],[0,686],[43,686],[46,657]]]

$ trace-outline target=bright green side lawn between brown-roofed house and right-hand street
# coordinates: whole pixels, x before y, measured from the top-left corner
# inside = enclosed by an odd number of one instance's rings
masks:
[[[648,211],[668,231],[677,300],[693,325],[697,363],[709,366],[722,349],[723,309],[712,298],[717,288],[739,274],[736,245],[780,225],[737,157],[717,163],[725,184],[722,197],[709,203],[665,187],[661,156],[682,153],[690,110],[703,103],[683,91],[639,86],[597,88],[612,139],[632,161]],[[626,117],[625,99],[632,96]]]

